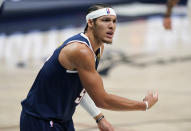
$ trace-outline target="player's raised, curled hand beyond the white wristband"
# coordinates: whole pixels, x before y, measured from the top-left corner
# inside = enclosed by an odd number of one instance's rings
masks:
[[[158,92],[153,93],[149,91],[143,101],[148,102],[148,109],[151,108],[158,101]]]

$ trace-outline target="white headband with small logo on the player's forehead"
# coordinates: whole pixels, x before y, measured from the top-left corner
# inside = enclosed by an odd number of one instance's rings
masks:
[[[96,11],[93,11],[91,13],[89,13],[86,16],[86,21],[88,22],[89,19],[95,19],[98,18],[100,16],[104,16],[104,15],[114,15],[116,16],[115,10],[112,8],[102,8],[102,9],[98,9]]]

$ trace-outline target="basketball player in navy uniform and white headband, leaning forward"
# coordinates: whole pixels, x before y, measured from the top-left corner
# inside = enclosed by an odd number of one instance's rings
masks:
[[[158,101],[157,92],[135,101],[104,90],[96,69],[104,43],[112,43],[116,19],[114,9],[107,5],[89,8],[84,33],[67,39],[54,51],[22,101],[21,131],[74,131],[72,116],[86,92],[96,106],[108,110],[145,111]],[[103,119],[97,116],[96,122]]]

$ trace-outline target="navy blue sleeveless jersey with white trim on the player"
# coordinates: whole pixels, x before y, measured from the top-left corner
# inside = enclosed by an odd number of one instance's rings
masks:
[[[72,119],[76,105],[85,94],[77,71],[61,66],[58,56],[62,48],[71,42],[86,44],[92,51],[88,38],[77,34],[58,47],[38,73],[27,98],[22,101],[23,111],[46,120],[68,121]],[[96,57],[97,56],[97,57]],[[96,68],[100,49],[95,54]]]

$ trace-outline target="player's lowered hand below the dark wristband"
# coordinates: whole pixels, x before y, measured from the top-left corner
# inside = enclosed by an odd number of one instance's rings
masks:
[[[114,131],[113,127],[109,122],[106,121],[105,118],[103,118],[101,121],[98,122],[98,128],[100,131]]]

